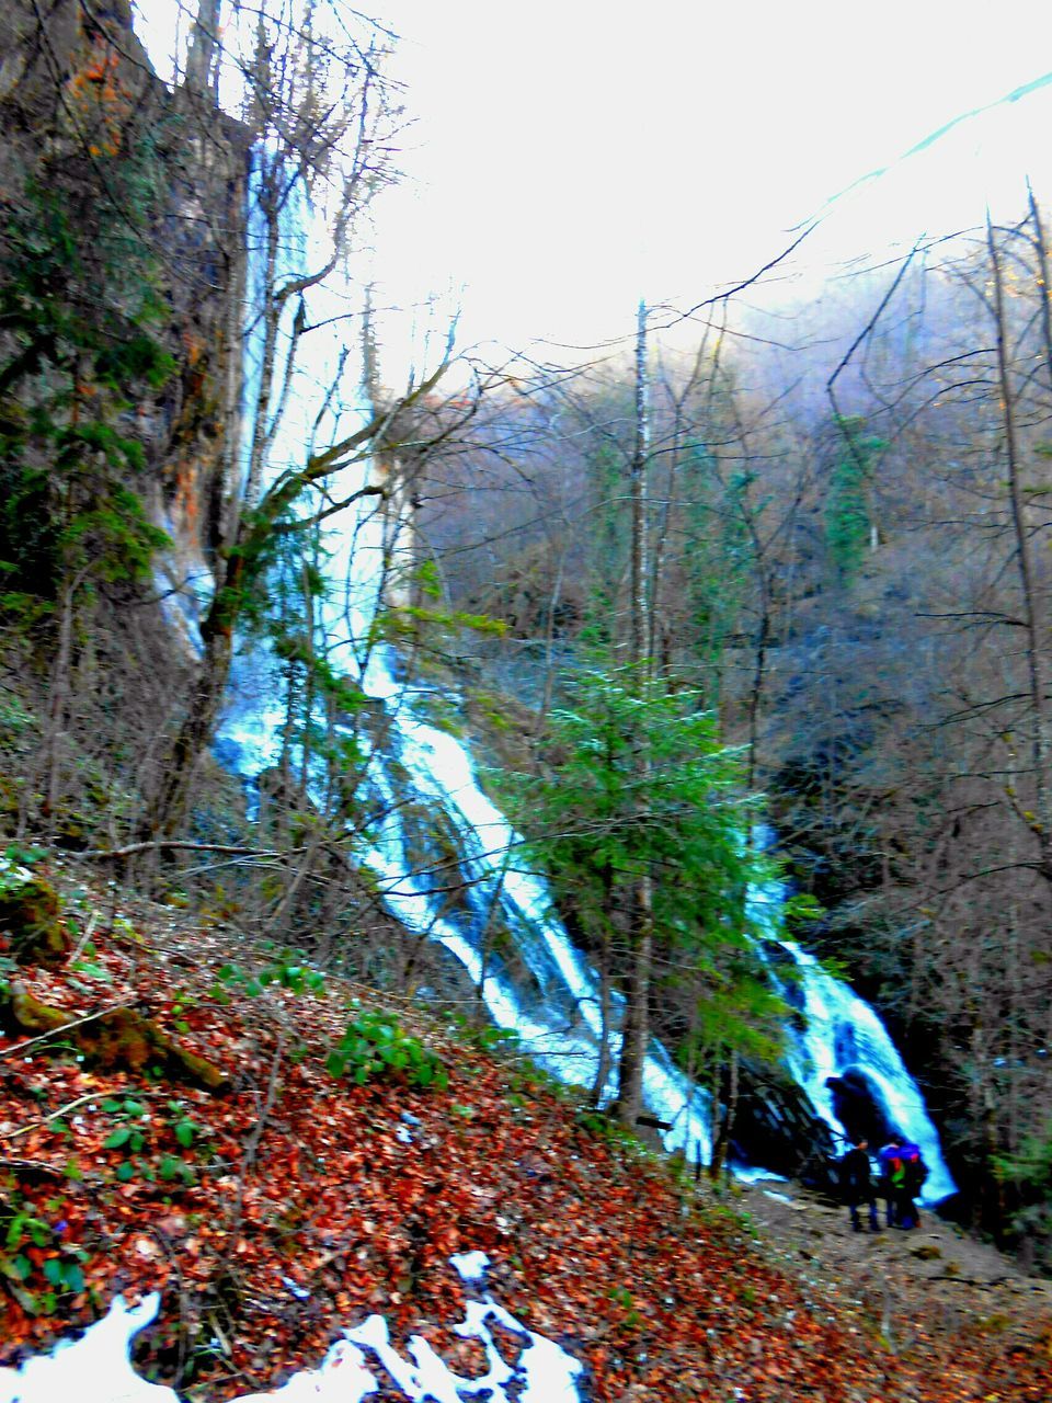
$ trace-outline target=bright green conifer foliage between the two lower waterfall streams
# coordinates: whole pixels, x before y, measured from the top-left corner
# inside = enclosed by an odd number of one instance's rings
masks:
[[[589,668],[567,679],[565,699],[546,773],[511,781],[530,860],[593,947],[624,941],[631,892],[649,873],[655,962],[690,1006],[685,1059],[703,1042],[776,1059],[784,1005],[745,899],[764,873],[748,840],[756,798],[742,749],[721,742],[699,692],[640,669]]]

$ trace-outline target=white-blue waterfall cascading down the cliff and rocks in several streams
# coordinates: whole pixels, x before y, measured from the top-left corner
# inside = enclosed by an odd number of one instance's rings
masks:
[[[302,274],[306,251],[316,247],[309,202],[300,199],[296,206],[283,250],[283,275],[289,276]],[[251,231],[250,220],[250,288],[259,275],[258,260],[254,265],[251,258]],[[348,365],[338,321],[349,296],[349,283],[339,279],[307,293],[309,321],[321,330],[304,338],[309,359],[300,356],[290,377],[285,417],[276,425],[271,448],[271,471],[302,460],[304,445],[321,441],[323,435],[325,442],[338,441],[367,415],[358,365]],[[292,309],[286,317],[288,355]],[[258,383],[254,337],[254,333],[247,337],[250,400]],[[335,366],[342,368],[338,386],[331,383]],[[328,502],[349,501],[356,494],[358,501],[325,522],[328,593],[321,600],[318,620],[318,647],[328,665],[355,679],[384,717],[383,728],[375,727],[367,742],[360,793],[370,822],[356,856],[373,873],[398,920],[442,944],[481,985],[481,998],[498,1027],[516,1033],[525,1051],[558,1079],[591,1086],[602,1035],[596,971],[568,939],[543,880],[516,866],[522,839],[484,794],[467,748],[428,718],[426,703],[433,689],[405,682],[396,651],[376,640],[375,619],[391,558],[391,528],[376,508],[376,498],[360,497],[370,471],[372,464],[360,460],[327,481]],[[278,758],[285,717],[275,683],[274,659],[265,650],[257,650],[238,668],[217,738],[220,758],[248,781]],[[380,730],[384,734],[377,741]],[[351,734],[349,725],[346,731]],[[407,814],[421,808],[456,838],[464,891],[460,911],[443,908],[433,873],[419,870],[412,861]],[[781,939],[777,884],[752,892],[750,902],[753,911],[766,912],[769,941],[780,944],[798,969],[807,1028],[790,1030],[787,1063],[815,1114],[839,1132],[826,1079],[857,1073],[882,1104],[888,1125],[922,1145],[931,1170],[926,1197],[937,1200],[952,1193],[920,1092],[874,1010],[811,955]],[[526,978],[512,979],[499,955],[484,948],[494,915],[512,933]],[[790,998],[794,993],[788,991]],[[663,1132],[669,1150],[682,1149],[692,1160],[708,1157],[707,1096],[656,1040],[644,1069],[644,1100],[655,1117],[669,1124]]]

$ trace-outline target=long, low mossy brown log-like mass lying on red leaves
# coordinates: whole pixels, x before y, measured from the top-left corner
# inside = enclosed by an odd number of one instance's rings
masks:
[[[20,979],[0,995],[0,1021],[13,1031],[60,1035],[63,1051],[70,1047],[91,1066],[107,1070],[146,1072],[159,1068],[174,1082],[222,1093],[230,1079],[213,1062],[188,1052],[151,1019],[135,1009],[109,1009],[97,1019],[77,1024],[65,1009],[34,998]]]

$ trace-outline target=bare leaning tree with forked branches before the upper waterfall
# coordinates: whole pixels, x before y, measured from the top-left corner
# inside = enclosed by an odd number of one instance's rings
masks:
[[[208,6],[206,11],[199,15],[191,45],[198,79],[198,70],[222,62],[210,56],[215,41],[201,38],[213,18]],[[380,441],[389,450],[396,448],[391,422],[426,397],[445,369],[439,366],[411,386],[398,403],[373,408],[366,422],[338,432],[335,442],[303,445],[300,462],[272,462],[311,334],[307,299],[327,281],[344,275],[355,222],[390,178],[394,112],[382,77],[386,36],[356,15],[342,18],[344,27],[332,27],[332,32],[344,35],[337,42],[311,6],[299,25],[283,11],[262,11],[251,59],[233,55],[245,81],[245,115],[255,142],[247,237],[255,246],[258,278],[247,296],[255,318],[248,335],[257,370],[250,386],[244,466],[236,467],[227,483],[216,584],[201,626],[198,680],[159,765],[142,836],[171,836],[182,821],[198,759],[213,734],[226,692],[234,634],[259,585],[272,542],[309,529],[300,504],[311,488],[351,463],[372,457]],[[303,220],[310,210],[324,210],[327,217],[320,255],[304,243]],[[359,330],[352,324],[352,335],[360,335],[360,324]],[[342,366],[331,370],[335,376]],[[344,501],[324,502],[320,511],[328,516],[358,497],[379,499],[384,494],[382,483],[366,481]]]

